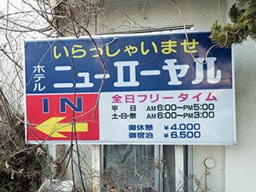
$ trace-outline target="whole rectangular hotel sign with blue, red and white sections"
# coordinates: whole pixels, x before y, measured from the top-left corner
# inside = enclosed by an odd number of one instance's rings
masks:
[[[26,142],[234,144],[231,49],[209,36],[26,40]]]

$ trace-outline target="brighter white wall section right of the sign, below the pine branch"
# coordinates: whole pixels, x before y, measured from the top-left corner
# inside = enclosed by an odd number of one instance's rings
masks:
[[[226,192],[255,191],[256,42],[234,46],[237,145],[226,146]]]

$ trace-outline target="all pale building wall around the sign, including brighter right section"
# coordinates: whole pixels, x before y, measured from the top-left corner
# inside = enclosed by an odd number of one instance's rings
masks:
[[[91,33],[172,28],[183,26],[184,22],[193,25],[195,30],[210,30],[214,21],[226,22],[227,10],[234,2],[180,0],[177,3],[170,0],[101,0],[102,7],[98,10],[96,27]],[[182,16],[178,9],[181,9]],[[193,146],[193,174],[200,179],[202,186],[206,186],[207,191],[250,192],[256,189],[255,47],[256,42],[252,40],[234,46],[237,144]],[[212,169],[206,169],[206,158],[214,160]],[[194,184],[194,190],[196,188]]]

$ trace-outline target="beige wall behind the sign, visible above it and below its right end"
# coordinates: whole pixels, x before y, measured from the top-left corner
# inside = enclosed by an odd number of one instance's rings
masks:
[[[182,0],[177,1],[178,4],[170,0],[104,1],[98,33],[172,28],[184,23],[193,25],[195,30],[210,30],[214,21],[226,19],[226,2],[220,2],[221,6],[211,0]],[[194,146],[193,151],[193,174],[200,179],[201,186],[206,185],[211,191],[225,191],[225,146]],[[214,159],[213,169],[206,170],[206,158]]]

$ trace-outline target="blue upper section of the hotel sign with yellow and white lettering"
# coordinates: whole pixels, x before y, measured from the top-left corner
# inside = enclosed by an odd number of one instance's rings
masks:
[[[189,33],[189,42],[185,34],[26,42],[26,94],[72,93],[74,85],[77,93],[98,92],[102,65],[102,92],[230,89],[230,49],[206,55],[209,35]]]

